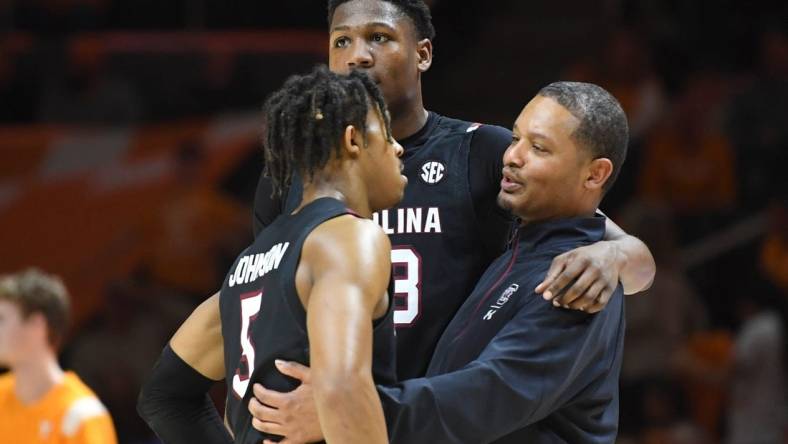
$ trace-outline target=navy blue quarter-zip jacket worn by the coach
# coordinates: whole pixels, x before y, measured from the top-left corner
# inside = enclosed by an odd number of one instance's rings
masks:
[[[443,333],[427,376],[379,387],[391,442],[614,442],[621,285],[597,314],[534,293],[555,256],[604,231],[602,216],[521,227]]]

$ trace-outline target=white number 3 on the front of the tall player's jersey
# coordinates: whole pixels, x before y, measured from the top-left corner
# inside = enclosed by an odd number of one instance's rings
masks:
[[[394,299],[405,299],[395,305],[394,325],[408,326],[419,317],[421,308],[421,256],[413,247],[395,246],[391,249],[394,268]]]

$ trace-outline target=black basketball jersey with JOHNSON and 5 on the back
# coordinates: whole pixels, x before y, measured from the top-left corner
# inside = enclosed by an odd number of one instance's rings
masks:
[[[279,373],[275,359],[309,365],[306,311],[295,285],[301,249],[323,222],[351,214],[343,203],[317,199],[297,214],[280,215],[235,261],[222,286],[220,312],[227,380],[227,417],[236,443],[259,444],[271,438],[252,428],[247,409],[252,384],[280,392],[298,382]],[[393,305],[375,321],[373,377],[393,383],[395,349]]]

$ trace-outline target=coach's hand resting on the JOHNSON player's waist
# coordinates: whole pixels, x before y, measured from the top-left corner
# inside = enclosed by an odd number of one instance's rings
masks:
[[[276,368],[282,374],[301,381],[292,392],[280,393],[254,384],[254,397],[249,400],[252,414],[252,427],[255,429],[284,436],[280,443],[301,444],[323,440],[317,407],[312,397],[311,370],[297,362],[276,361]],[[265,440],[264,443],[274,441]]]

